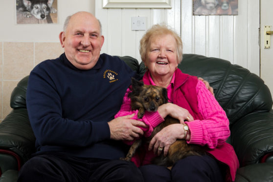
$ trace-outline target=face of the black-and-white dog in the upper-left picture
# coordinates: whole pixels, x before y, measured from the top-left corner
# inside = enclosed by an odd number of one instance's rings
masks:
[[[35,18],[43,20],[50,12],[54,0],[23,0],[23,4]]]

